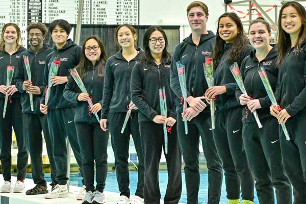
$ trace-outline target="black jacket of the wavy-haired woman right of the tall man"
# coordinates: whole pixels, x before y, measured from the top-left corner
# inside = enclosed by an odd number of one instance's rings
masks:
[[[231,47],[232,44],[224,44],[223,55],[221,56],[214,73],[214,85],[226,87],[226,92],[218,95],[217,97],[216,111],[222,111],[240,106],[235,97],[236,88],[238,85],[230,70],[233,63],[226,60],[228,57],[228,51],[231,49]],[[239,68],[242,60],[250,54],[252,49],[253,48],[248,45],[242,50],[240,60],[237,62]]]

